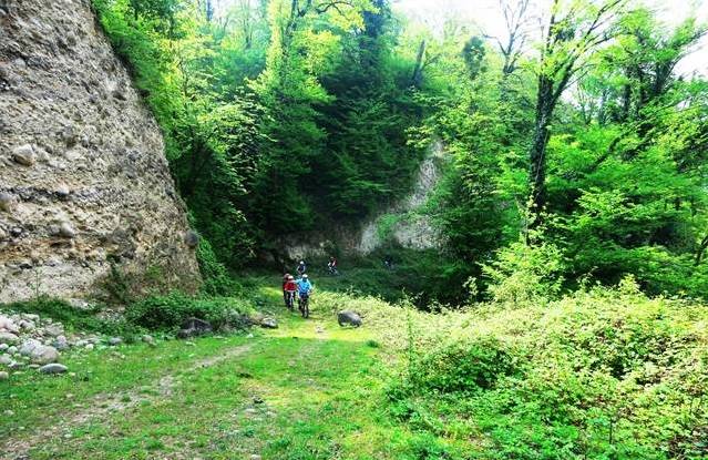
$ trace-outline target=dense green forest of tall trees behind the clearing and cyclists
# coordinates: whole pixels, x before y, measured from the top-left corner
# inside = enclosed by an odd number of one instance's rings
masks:
[[[386,0],[94,4],[164,131],[203,264],[209,245],[238,269],[283,235],[356,225],[440,140],[428,213],[445,245],[429,268],[453,298],[627,274],[707,294],[708,81],[676,71],[704,37],[695,18],[555,1],[535,37],[530,2],[502,1],[496,38]]]

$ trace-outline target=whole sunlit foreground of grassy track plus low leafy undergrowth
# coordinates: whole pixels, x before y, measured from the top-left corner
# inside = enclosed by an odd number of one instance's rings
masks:
[[[32,459],[708,458],[702,305],[625,285],[427,314],[316,284],[304,321],[278,277],[242,282],[279,329],[16,375],[0,443]],[[337,326],[342,308],[366,327]]]

